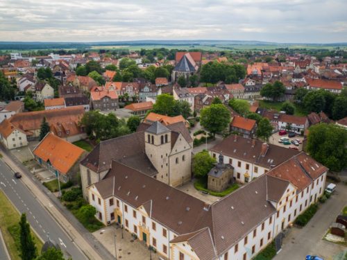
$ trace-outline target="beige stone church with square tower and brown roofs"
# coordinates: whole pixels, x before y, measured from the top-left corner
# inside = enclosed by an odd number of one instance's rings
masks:
[[[90,185],[108,177],[113,160],[173,187],[191,179],[193,140],[185,124],[165,126],[155,121],[143,126],[133,134],[101,141],[83,159],[81,178],[85,199],[89,200]]]

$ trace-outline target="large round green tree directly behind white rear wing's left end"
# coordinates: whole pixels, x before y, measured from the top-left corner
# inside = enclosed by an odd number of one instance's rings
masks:
[[[228,128],[230,112],[224,105],[210,105],[210,107],[201,110],[200,123],[215,136],[217,132],[222,132]]]

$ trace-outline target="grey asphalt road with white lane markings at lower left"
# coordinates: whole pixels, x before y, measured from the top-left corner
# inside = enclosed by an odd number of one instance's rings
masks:
[[[26,213],[28,223],[44,241],[47,241],[49,237],[53,243],[58,243],[67,257],[76,260],[87,259],[62,227],[56,223],[56,220],[35,199],[33,193],[26,188],[21,180],[13,177],[12,170],[2,160],[0,161],[0,187],[18,211]]]

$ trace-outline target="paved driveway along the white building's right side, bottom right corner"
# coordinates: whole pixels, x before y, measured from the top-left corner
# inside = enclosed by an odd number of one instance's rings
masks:
[[[347,253],[347,248],[322,238],[346,204],[347,186],[339,183],[335,194],[325,204],[320,205],[319,210],[305,227],[302,229],[293,227],[289,231],[283,241],[282,250],[274,259],[305,259],[307,254],[314,254],[325,260],[342,260],[342,252]]]

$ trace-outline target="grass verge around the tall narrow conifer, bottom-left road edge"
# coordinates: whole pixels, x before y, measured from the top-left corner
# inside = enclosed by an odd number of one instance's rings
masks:
[[[6,198],[3,191],[0,191],[0,229],[3,234],[3,239],[6,244],[6,248],[10,254],[12,260],[20,260],[19,257],[19,245],[18,245],[18,228],[17,225],[20,220],[20,216],[15,207],[12,206],[11,202]],[[15,237],[12,236],[15,234]],[[34,241],[36,243],[37,252],[41,252],[42,241],[38,239],[35,233],[32,231]],[[17,242],[17,243],[16,243]]]

